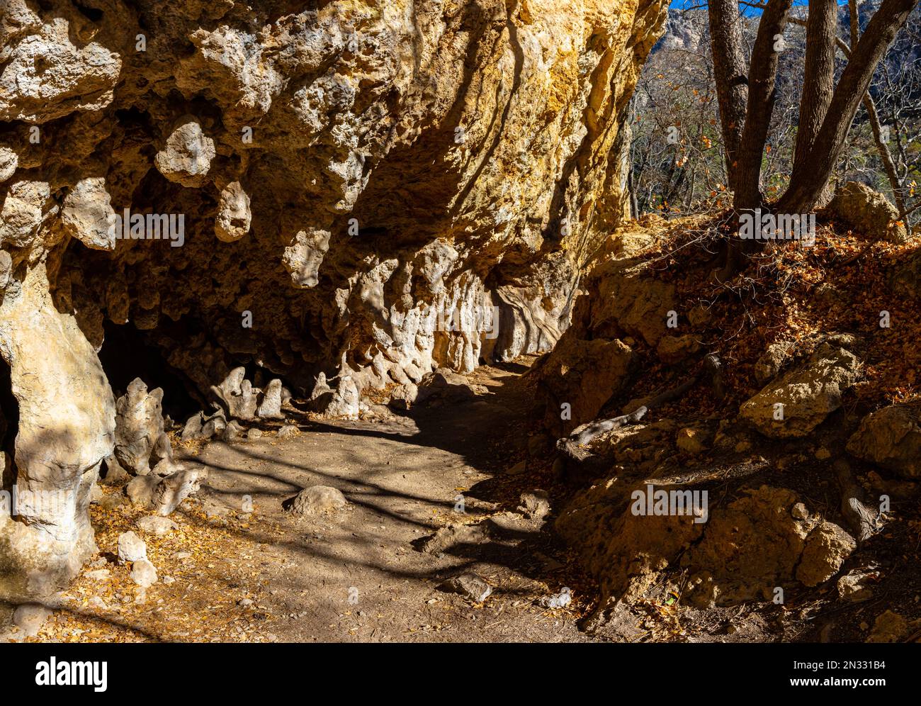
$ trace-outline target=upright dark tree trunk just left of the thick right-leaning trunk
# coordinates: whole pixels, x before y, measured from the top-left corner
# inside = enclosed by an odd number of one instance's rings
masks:
[[[806,21],[806,60],[799,98],[799,126],[794,173],[809,169],[809,153],[834,96],[834,42],[837,37],[836,0],[810,0]],[[791,177],[792,179],[793,177]]]

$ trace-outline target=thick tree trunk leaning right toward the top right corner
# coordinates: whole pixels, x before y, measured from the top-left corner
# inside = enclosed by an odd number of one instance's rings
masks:
[[[876,65],[880,63],[896,33],[904,26],[915,2],[883,0],[880,9],[870,19],[866,33],[851,52],[850,61],[834,90],[822,128],[809,154],[803,161],[798,159],[794,165],[794,173],[787,192],[778,202],[778,210],[784,213],[808,213],[815,207],[841,155],[857,107],[869,88]]]

